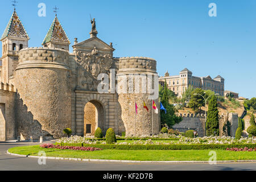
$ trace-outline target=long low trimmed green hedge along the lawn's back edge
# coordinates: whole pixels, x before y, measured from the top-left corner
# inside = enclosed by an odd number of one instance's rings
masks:
[[[56,143],[61,146],[66,146],[67,143]],[[78,143],[76,143],[78,144]],[[221,149],[226,150],[226,148],[255,148],[256,144],[86,144],[79,143],[83,147],[96,147],[102,149],[116,149],[116,150],[212,150]],[[79,145],[79,146],[80,146]],[[67,146],[72,146],[68,143]],[[76,145],[77,146],[77,145]]]

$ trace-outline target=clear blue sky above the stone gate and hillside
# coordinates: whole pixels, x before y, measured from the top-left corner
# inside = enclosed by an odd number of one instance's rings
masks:
[[[38,16],[41,2],[46,17]],[[211,2],[217,5],[217,17],[208,15]],[[152,57],[159,75],[167,69],[177,75],[184,68],[200,77],[221,75],[225,90],[256,97],[255,0],[18,0],[16,11],[31,38],[29,47],[43,42],[55,5],[72,44],[74,38],[89,38],[92,14],[98,38],[113,42],[115,57]],[[1,1],[0,12],[2,34],[13,13],[11,1]]]

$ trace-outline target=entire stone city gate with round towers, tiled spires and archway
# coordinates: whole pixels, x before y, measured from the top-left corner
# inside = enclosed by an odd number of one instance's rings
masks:
[[[81,136],[93,135],[97,127],[104,132],[111,127],[119,135],[125,131],[127,136],[159,133],[159,114],[152,109],[152,100],[159,109],[154,59],[113,57],[113,44],[97,38],[95,24],[90,38],[80,43],[75,39],[70,53],[71,42],[57,16],[43,47],[28,48],[26,30],[13,19],[19,19],[16,11],[1,38],[6,50],[0,72],[0,110],[5,113],[0,131],[5,134],[0,140],[60,138],[67,127]],[[23,49],[10,52],[13,43],[22,43]],[[129,78],[119,80],[124,77]],[[102,81],[104,92],[98,89]],[[121,82],[123,90],[117,92]]]

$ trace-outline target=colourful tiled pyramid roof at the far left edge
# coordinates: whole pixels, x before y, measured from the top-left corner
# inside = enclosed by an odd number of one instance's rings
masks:
[[[15,10],[13,15],[11,15],[11,19],[9,20],[7,27],[5,28],[5,32],[3,32],[1,40],[6,37],[30,39]]]

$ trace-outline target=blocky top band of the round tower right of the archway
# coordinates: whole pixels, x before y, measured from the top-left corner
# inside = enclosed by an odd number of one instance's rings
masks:
[[[119,69],[147,69],[148,71],[156,71],[156,61],[150,57],[120,57]]]

